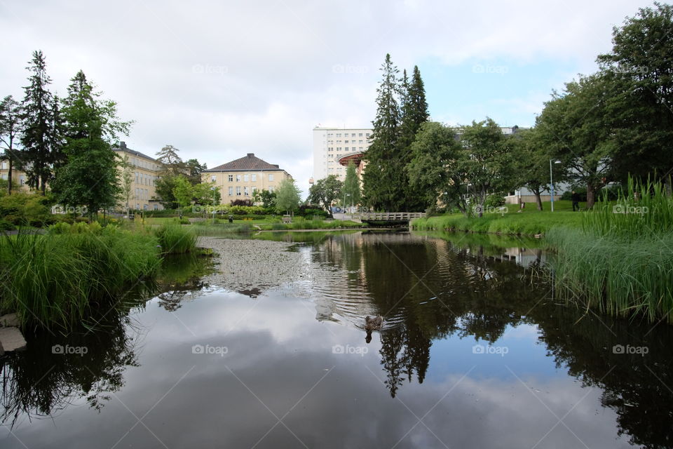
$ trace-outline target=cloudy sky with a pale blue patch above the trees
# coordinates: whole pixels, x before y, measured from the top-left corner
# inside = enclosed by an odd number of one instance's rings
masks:
[[[315,126],[371,126],[386,53],[418,65],[430,116],[531,126],[553,89],[597,68],[646,1],[0,2],[0,95],[42,50],[52,90],[80,69],[118,103],[128,147],[212,168],[254,153],[308,191]]]

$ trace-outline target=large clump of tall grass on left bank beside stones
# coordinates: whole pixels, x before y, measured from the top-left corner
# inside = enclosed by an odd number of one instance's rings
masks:
[[[0,309],[24,326],[72,328],[161,262],[154,236],[59,227],[0,239]]]

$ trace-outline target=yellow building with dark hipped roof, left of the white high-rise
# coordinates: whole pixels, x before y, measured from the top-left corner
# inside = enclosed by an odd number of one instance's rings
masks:
[[[252,200],[255,190],[273,192],[281,181],[290,178],[282,168],[259,159],[254,153],[221,166],[203,170],[203,182],[215,182],[222,194],[222,203],[237,199]]]

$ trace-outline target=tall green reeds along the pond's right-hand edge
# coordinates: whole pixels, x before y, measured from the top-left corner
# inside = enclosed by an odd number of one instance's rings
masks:
[[[609,314],[673,323],[673,199],[660,183],[629,180],[616,203],[601,201],[579,229],[551,229],[550,274],[560,295]]]

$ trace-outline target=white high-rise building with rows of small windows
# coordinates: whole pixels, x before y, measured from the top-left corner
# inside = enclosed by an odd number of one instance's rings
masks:
[[[344,154],[365,152],[371,142],[370,128],[313,128],[313,178],[321,180],[328,175],[346,177],[346,167],[339,159]]]

